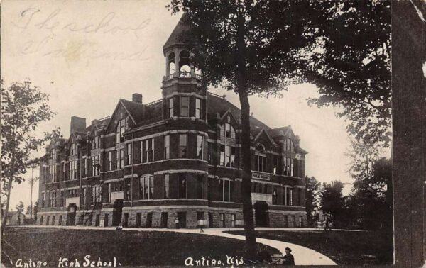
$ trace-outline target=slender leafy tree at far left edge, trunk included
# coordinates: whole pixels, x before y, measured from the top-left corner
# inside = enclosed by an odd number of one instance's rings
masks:
[[[1,82],[3,87],[3,82]],[[44,133],[42,138],[35,135],[39,123],[48,121],[55,113],[48,105],[48,95],[31,82],[13,82],[1,90],[1,182],[2,194],[6,196],[6,209],[1,225],[4,232],[9,210],[12,184],[24,181],[32,152],[38,150],[46,140],[59,135],[59,130]]]

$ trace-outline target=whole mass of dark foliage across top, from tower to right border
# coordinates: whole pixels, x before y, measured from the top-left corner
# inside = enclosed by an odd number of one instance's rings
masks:
[[[204,84],[236,86],[244,14],[249,94],[279,95],[290,83],[316,84],[317,106],[339,106],[356,139],[387,146],[391,123],[391,1],[191,1],[182,35]]]

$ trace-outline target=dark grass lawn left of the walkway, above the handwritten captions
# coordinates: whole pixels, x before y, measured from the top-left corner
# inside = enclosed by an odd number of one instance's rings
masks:
[[[6,241],[6,242],[4,242]],[[275,253],[272,247],[258,244],[259,250]],[[60,257],[113,261],[116,257],[121,266],[136,265],[185,265],[185,259],[204,258],[221,260],[226,255],[241,258],[244,241],[174,232],[141,232],[116,230],[70,230],[62,228],[6,228],[2,249],[15,264],[17,259],[47,262],[48,267],[58,267]],[[16,251],[16,250],[17,251]],[[9,259],[2,258],[6,267]]]

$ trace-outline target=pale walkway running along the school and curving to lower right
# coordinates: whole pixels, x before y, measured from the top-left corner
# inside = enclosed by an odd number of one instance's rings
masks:
[[[24,226],[23,226],[24,227]],[[68,228],[68,229],[86,229],[86,230],[115,230],[115,227],[94,227],[94,226],[45,226],[45,225],[30,225],[26,227],[38,227],[38,228]],[[229,230],[244,230],[244,228],[205,228],[204,233],[200,233],[200,229],[165,229],[165,228],[123,228],[123,230],[129,231],[159,231],[159,232],[177,232],[177,233],[197,233],[200,235],[216,235],[224,238],[234,238],[244,240],[244,235],[231,235],[229,233],[223,233]],[[256,230],[290,230],[290,231],[320,231],[315,228],[256,228]],[[278,240],[271,240],[265,238],[256,238],[257,242],[270,247],[275,247],[277,250],[285,255],[285,247],[290,247],[293,256],[295,256],[296,265],[337,265],[329,257],[322,255],[320,252],[311,250],[307,247],[295,245],[289,242],[283,242]]]

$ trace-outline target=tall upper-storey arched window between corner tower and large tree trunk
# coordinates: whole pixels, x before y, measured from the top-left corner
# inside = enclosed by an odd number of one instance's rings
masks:
[[[224,123],[220,127],[220,165],[235,167],[236,139],[235,130],[230,123]]]

